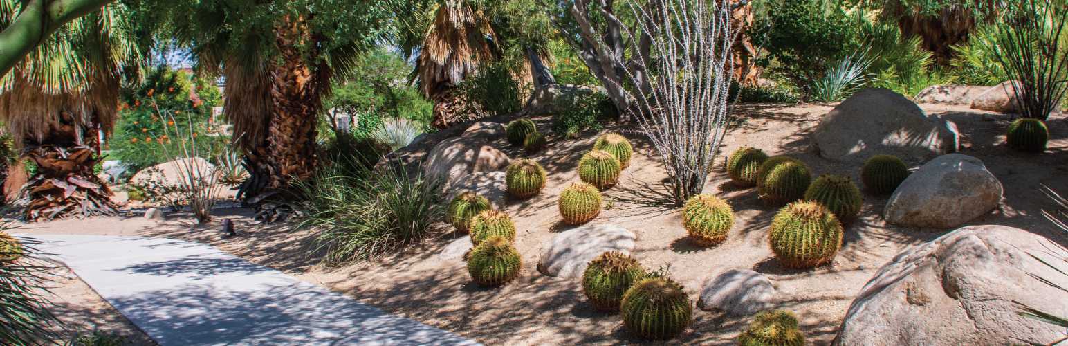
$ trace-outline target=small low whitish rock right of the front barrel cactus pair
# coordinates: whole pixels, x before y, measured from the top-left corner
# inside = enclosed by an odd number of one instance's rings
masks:
[[[772,308],[775,286],[764,274],[731,269],[709,280],[701,289],[697,308],[748,316]]]

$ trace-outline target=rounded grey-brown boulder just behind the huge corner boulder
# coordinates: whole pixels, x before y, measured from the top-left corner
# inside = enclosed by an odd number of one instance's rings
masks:
[[[901,182],[883,217],[898,225],[952,229],[996,208],[1001,199],[1001,182],[981,160],[949,154],[924,163]]]

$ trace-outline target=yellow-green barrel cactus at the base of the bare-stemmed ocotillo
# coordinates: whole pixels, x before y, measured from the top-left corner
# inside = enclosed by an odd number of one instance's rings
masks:
[[[694,195],[682,206],[682,225],[697,246],[714,246],[726,240],[734,226],[734,209],[714,195]]]

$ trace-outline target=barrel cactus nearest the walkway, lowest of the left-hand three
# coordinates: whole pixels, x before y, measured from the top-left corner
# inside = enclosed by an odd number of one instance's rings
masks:
[[[519,276],[522,257],[504,237],[489,237],[468,255],[471,281],[487,287],[500,286]]]

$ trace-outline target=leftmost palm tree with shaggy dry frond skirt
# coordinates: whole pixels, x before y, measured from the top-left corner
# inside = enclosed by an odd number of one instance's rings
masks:
[[[22,3],[0,0],[0,26],[11,25]],[[27,219],[115,211],[93,167],[100,160],[97,133],[114,126],[123,73],[142,58],[128,19],[122,4],[76,19],[0,80],[0,120],[37,168],[22,188]]]

